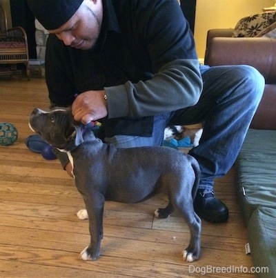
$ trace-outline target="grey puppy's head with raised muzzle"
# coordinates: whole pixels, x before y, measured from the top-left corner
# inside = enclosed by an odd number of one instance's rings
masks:
[[[35,108],[30,115],[29,126],[47,143],[60,150],[70,150],[83,141],[81,128],[68,108],[50,111]]]

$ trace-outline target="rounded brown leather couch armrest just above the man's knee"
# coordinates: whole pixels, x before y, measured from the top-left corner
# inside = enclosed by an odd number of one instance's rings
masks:
[[[204,63],[253,66],[266,84],[276,84],[276,39],[215,37],[208,44]]]

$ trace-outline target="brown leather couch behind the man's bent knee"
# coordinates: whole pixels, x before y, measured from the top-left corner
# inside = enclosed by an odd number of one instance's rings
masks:
[[[264,95],[251,128],[276,130],[276,39],[234,38],[233,29],[208,31],[204,63],[209,66],[246,64],[266,80]]]

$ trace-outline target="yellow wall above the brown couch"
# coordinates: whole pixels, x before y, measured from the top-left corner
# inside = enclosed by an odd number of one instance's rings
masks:
[[[213,28],[234,28],[237,21],[274,6],[273,0],[197,0],[195,43],[199,58],[204,58],[206,34]]]

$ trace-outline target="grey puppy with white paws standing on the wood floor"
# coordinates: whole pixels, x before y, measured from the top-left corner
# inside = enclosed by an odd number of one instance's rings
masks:
[[[75,184],[86,205],[79,217],[86,218],[87,211],[89,219],[90,245],[81,252],[81,259],[99,257],[105,200],[137,203],[159,191],[168,195],[169,203],[157,209],[155,216],[166,218],[179,210],[190,228],[190,243],[183,257],[186,261],[199,258],[201,220],[193,199],[200,170],[195,158],[166,147],[125,149],[108,145],[90,128],[77,125],[69,109],[46,112],[36,108],[30,115],[30,128],[50,145],[67,152],[72,163]]]

